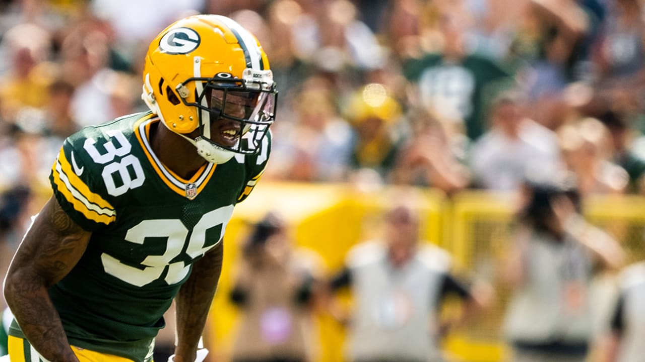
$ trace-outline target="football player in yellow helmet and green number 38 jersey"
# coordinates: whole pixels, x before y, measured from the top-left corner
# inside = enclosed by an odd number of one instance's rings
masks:
[[[204,357],[224,229],[263,173],[277,91],[250,32],[194,15],[150,44],[142,97],[149,112],[84,128],[54,162],[5,280],[11,361],[150,361],[173,298],[170,359]]]

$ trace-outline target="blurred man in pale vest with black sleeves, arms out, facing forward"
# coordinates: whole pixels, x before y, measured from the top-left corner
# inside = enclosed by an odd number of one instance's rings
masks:
[[[446,251],[419,240],[419,215],[407,205],[386,214],[383,240],[348,253],[330,283],[351,286],[353,310],[347,352],[350,361],[441,361],[438,344],[441,301],[463,300],[464,316],[483,303],[450,274]],[[342,314],[335,312],[344,321]]]

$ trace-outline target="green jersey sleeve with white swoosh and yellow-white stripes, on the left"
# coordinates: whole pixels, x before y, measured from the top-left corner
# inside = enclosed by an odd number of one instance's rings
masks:
[[[115,208],[95,180],[102,180],[97,168],[77,142],[65,140],[52,166],[50,183],[54,197],[72,220],[86,231],[96,231],[116,219]]]

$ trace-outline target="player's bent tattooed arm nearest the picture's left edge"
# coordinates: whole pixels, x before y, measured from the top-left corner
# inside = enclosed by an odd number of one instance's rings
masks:
[[[78,359],[47,289],[72,270],[91,233],[50,198],[15,253],[5,278],[5,298],[32,346],[49,361]]]

